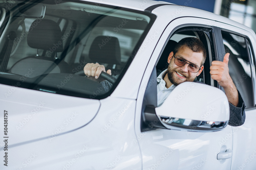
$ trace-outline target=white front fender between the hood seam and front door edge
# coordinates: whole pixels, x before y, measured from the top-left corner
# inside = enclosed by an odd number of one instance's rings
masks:
[[[98,114],[84,127],[52,138],[10,145],[8,168],[140,169],[140,150],[134,142],[135,103],[129,99],[103,99]],[[118,110],[112,111],[109,107]],[[13,135],[9,140],[12,138]],[[0,153],[3,155],[3,152]]]

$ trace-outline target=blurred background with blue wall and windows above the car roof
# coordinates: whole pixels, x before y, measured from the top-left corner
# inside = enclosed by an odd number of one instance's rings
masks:
[[[256,32],[256,0],[161,0],[194,7],[230,18]],[[255,12],[254,12],[255,11]]]

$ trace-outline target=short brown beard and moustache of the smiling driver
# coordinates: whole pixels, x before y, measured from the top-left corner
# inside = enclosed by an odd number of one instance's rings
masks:
[[[182,74],[185,76],[185,79],[180,79],[176,74],[176,72]],[[176,69],[176,68],[172,68],[172,66],[168,66],[167,68],[167,76],[168,76],[168,79],[170,80],[170,82],[172,84],[174,84],[175,86],[179,85],[180,83],[183,83],[183,82],[193,82],[196,78],[196,75],[195,76],[190,76],[188,73],[184,73],[182,72],[181,70],[179,69]]]

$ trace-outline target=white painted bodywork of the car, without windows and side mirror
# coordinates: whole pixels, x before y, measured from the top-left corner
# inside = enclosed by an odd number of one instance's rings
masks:
[[[8,111],[10,130],[8,169],[226,170],[256,167],[255,108],[246,110],[244,125],[227,125],[217,132],[155,129],[153,124],[149,131],[141,131],[145,90],[159,55],[175,30],[191,25],[220,27],[248,36],[256,49],[256,36],[251,29],[210,12],[169,3],[148,0],[90,2],[95,6],[103,3],[140,11],[152,5],[166,5],[153,9],[156,20],[152,28],[140,49],[135,51],[120,83],[104,99],[0,84],[3,91],[0,108]],[[0,40],[3,41],[3,37]],[[256,91],[255,85],[254,89]],[[196,109],[190,103],[184,107]],[[4,120],[3,114],[0,120]],[[4,146],[2,140],[0,155],[5,154]],[[233,151],[233,156],[217,160],[217,154],[227,149]]]

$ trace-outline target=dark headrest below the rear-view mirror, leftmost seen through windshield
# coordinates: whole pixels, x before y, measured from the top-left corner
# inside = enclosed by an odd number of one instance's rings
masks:
[[[49,19],[35,20],[30,26],[27,42],[31,48],[61,52],[61,36],[62,32],[56,22]]]

